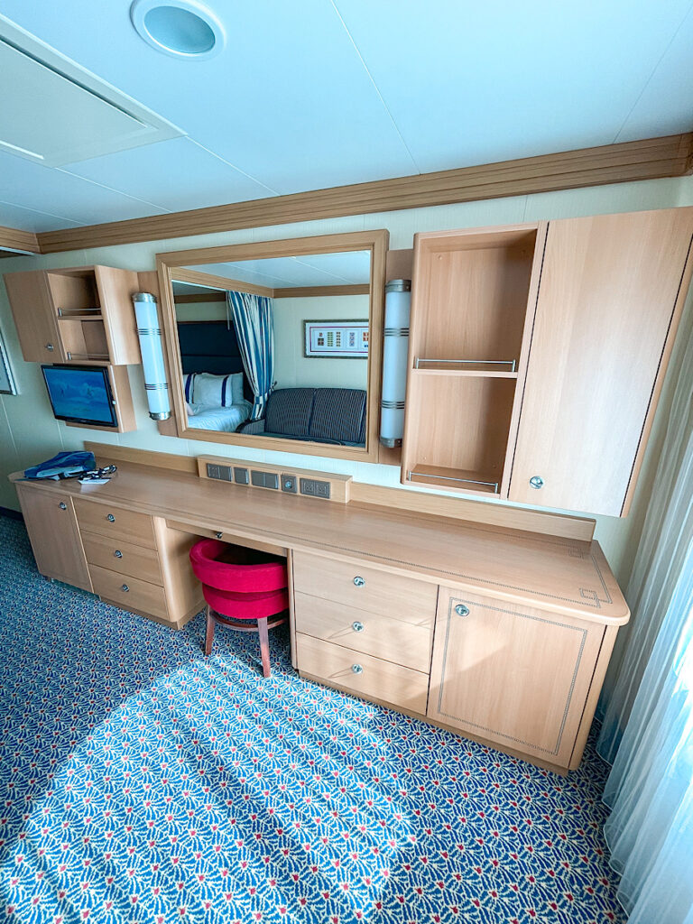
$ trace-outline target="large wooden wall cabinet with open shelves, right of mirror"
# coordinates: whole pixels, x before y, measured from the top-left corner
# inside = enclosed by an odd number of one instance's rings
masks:
[[[693,208],[415,238],[402,480],[625,516]]]

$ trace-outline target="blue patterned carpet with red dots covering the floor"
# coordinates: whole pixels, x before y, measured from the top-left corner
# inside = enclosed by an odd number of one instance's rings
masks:
[[[0,918],[623,922],[567,780],[52,584],[0,517]]]

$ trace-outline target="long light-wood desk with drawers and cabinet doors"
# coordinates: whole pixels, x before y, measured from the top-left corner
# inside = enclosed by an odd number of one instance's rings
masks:
[[[17,481],[39,570],[175,628],[199,536],[286,553],[301,675],[564,771],[628,608],[597,542],[123,464]],[[119,554],[118,554],[119,553]]]

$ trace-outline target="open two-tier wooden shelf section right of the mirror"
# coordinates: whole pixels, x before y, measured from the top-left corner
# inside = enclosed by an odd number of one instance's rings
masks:
[[[537,234],[415,237],[404,484],[501,495]]]

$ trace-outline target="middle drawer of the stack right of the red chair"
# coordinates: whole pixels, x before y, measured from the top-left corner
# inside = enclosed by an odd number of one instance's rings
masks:
[[[422,625],[415,626],[391,616],[298,592],[294,595],[294,619],[297,632],[304,635],[425,674],[431,668],[432,630],[428,617],[422,618]]]

